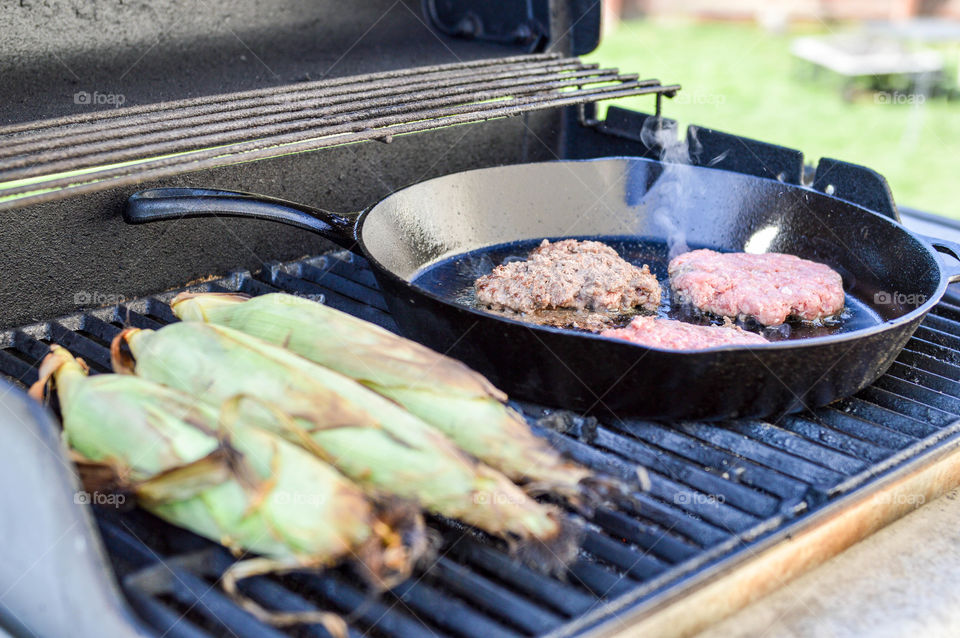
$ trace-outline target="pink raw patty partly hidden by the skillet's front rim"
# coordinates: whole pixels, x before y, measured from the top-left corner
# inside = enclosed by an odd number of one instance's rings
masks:
[[[604,330],[600,334],[667,350],[703,350],[714,346],[767,343],[760,335],[747,332],[739,326],[697,326],[660,317],[637,317],[626,328]]]

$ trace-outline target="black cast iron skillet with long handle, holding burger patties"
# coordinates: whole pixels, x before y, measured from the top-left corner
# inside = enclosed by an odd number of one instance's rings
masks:
[[[918,237],[864,208],[775,180],[639,158],[471,170],[409,186],[359,214],[156,189],[132,196],[125,219],[211,215],[319,233],[370,262],[408,337],[463,360],[515,398],[622,416],[759,417],[849,396],[886,371],[948,282],[960,280],[960,267],[936,252],[960,258],[960,246]],[[676,250],[681,241],[792,253],[843,275],[853,315],[835,334],[666,351],[534,327],[464,303],[464,281],[545,237],[610,240],[664,284],[668,245]],[[511,242],[521,244],[490,252]]]

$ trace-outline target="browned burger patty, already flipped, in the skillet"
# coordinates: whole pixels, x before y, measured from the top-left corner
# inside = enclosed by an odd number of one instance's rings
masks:
[[[474,282],[477,301],[494,310],[597,310],[626,312],[636,307],[654,311],[660,284],[644,265],[624,261],[598,241],[544,239],[526,261],[493,269]]]

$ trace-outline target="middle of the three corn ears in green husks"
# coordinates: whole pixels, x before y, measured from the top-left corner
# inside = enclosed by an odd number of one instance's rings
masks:
[[[507,539],[552,544],[557,556],[572,557],[571,530],[556,508],[537,503],[396,403],[299,355],[199,322],[126,330],[112,351],[116,370],[200,399],[216,403],[243,394],[282,409],[302,426],[295,442],[368,489]]]

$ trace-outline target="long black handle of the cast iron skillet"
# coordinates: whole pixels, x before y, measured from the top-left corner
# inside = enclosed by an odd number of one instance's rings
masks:
[[[213,188],[151,188],[127,200],[123,219],[128,224],[186,217],[253,217],[309,230],[347,250],[357,245],[359,213],[332,213],[276,197]]]

